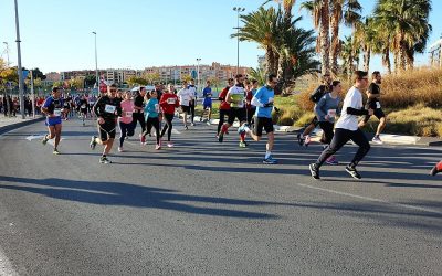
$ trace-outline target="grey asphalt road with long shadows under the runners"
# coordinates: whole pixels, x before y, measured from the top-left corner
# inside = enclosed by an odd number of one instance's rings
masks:
[[[0,137],[0,275],[442,275],[440,148],[373,146],[354,181],[349,145],[314,181],[319,146],[293,135],[277,166],[206,125],[101,164],[88,124],[64,123],[61,156],[42,123]]]

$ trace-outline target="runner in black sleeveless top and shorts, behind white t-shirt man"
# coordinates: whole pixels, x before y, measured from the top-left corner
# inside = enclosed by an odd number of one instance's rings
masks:
[[[382,145],[382,140],[379,138],[380,132],[386,128],[387,125],[387,116],[382,112],[382,107],[380,105],[380,87],[379,85],[382,83],[382,76],[379,71],[375,71],[371,75],[372,82],[367,91],[367,103],[366,109],[370,108],[375,110],[375,116],[379,119],[378,129],[376,130],[376,135],[372,138],[372,141],[379,145]],[[362,128],[368,120],[370,119],[370,115],[364,116],[364,119],[359,123],[359,127]]]

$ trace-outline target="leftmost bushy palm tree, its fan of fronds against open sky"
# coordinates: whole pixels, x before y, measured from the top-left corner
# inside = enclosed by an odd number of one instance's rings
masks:
[[[257,11],[241,15],[244,26],[231,35],[239,36],[240,41],[256,42],[260,47],[265,50],[265,60],[267,73],[277,72],[276,36],[278,35],[277,22],[280,12],[273,7],[264,9],[260,7]]]

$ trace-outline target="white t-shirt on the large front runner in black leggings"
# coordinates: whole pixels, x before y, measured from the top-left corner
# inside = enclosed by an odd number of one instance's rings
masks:
[[[343,128],[355,131],[358,129],[358,116],[347,114],[347,107],[352,107],[355,109],[362,109],[362,94],[355,86],[351,87],[345,99],[343,105],[343,112],[340,118],[336,123],[335,128]]]

